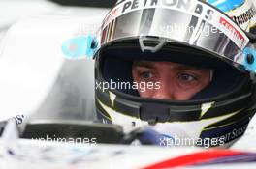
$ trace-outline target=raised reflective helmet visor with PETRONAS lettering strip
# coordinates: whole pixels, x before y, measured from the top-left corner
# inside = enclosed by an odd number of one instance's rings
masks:
[[[254,51],[248,37],[232,19],[196,0],[123,1],[107,15],[101,29],[101,45],[158,37],[208,51],[245,68],[246,54]]]

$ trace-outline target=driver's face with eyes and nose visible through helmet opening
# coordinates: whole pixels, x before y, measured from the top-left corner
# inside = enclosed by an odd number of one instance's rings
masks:
[[[157,89],[138,89],[142,98],[187,100],[210,83],[210,70],[172,62],[135,61],[134,81],[158,82]]]

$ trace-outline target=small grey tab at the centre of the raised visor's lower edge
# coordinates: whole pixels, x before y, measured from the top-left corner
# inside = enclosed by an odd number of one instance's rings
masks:
[[[155,53],[165,45],[166,39],[152,36],[140,36],[139,42],[143,52],[147,50]]]

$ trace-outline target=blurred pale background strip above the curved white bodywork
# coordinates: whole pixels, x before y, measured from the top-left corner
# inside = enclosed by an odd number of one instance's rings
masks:
[[[115,0],[0,0],[0,42],[18,19],[39,14],[106,14]]]

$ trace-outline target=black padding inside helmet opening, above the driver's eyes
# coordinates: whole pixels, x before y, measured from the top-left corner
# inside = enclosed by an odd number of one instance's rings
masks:
[[[134,46],[112,46],[106,48],[103,55],[124,61],[169,61],[209,69],[225,69],[228,65],[212,54],[180,45],[165,46],[155,53],[142,52],[139,44],[134,44]]]

